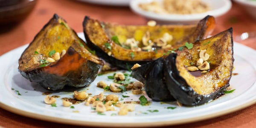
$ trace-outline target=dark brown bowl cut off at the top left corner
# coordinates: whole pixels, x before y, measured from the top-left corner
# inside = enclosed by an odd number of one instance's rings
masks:
[[[12,29],[34,9],[37,0],[0,0],[0,32]]]

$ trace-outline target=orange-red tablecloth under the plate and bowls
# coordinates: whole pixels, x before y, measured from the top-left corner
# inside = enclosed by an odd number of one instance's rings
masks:
[[[9,32],[0,33],[0,55],[30,43],[34,36],[48,22],[54,13],[63,17],[76,31],[82,32],[82,21],[85,15],[106,22],[120,24],[145,24],[144,17],[134,14],[128,7],[100,6],[82,3],[76,0],[38,0],[33,12]],[[233,27],[233,37],[243,32],[256,31],[256,21],[253,21],[236,3],[225,15],[216,19],[217,27],[213,34]],[[256,49],[256,39],[239,43]],[[2,62],[3,63],[3,62]],[[4,98],[4,97],[0,97]],[[39,127],[67,127],[71,125],[45,122],[20,116],[0,108],[0,126],[8,128],[39,128]],[[207,119],[200,122],[175,125],[178,128],[256,128],[256,104],[224,116]],[[166,126],[167,128],[167,126]]]

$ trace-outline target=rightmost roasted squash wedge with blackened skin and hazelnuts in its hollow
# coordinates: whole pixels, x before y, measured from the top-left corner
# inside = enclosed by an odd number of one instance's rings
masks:
[[[206,50],[209,70],[189,71]],[[157,101],[173,100],[188,105],[201,105],[224,94],[233,70],[232,28],[202,41],[192,49],[186,47],[141,65],[132,71],[132,77],[145,83],[145,91]],[[199,67],[199,66],[198,66]],[[158,74],[155,74],[158,73]],[[164,97],[169,96],[169,97]]]

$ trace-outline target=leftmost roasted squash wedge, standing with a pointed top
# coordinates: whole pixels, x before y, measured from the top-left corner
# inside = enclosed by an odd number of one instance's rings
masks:
[[[20,56],[18,70],[49,90],[66,85],[85,87],[104,65],[89,51],[66,21],[55,14]]]

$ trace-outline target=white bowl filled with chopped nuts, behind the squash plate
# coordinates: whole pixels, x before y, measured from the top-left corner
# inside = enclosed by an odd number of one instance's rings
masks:
[[[186,5],[186,6],[183,8],[177,9],[178,11],[180,11],[180,13],[177,13],[177,12],[171,13],[169,12],[169,10],[172,10],[172,9],[165,9],[165,11],[162,11],[164,8],[164,5],[167,4],[166,3],[167,0],[166,1],[157,0],[156,1],[157,3],[153,3],[153,4],[155,5],[160,3],[160,6],[162,6],[162,9],[156,10],[153,7],[148,9],[149,11],[142,9],[142,4],[151,3],[153,1],[155,0],[131,0],[130,8],[133,12],[137,13],[138,15],[142,15],[146,17],[148,20],[155,20],[157,21],[157,23],[192,24],[192,23],[198,23],[199,20],[203,19],[207,15],[212,15],[215,18],[221,15],[224,15],[226,12],[228,12],[231,9],[231,6],[232,6],[232,3],[230,0],[183,0],[183,2],[186,1],[187,3],[181,3],[180,0],[172,0],[172,3],[177,4],[176,6],[171,5],[173,8],[177,8],[177,6],[179,5]],[[180,3],[177,3],[178,1]],[[199,1],[200,3],[193,4],[195,1],[197,2]],[[209,9],[208,7],[205,7],[207,9],[206,12],[198,11],[195,13],[193,12],[191,13],[188,10],[188,9],[197,9],[198,8],[197,5],[200,5],[203,7],[207,5],[209,6]],[[169,6],[168,8],[171,8],[171,7]],[[186,9],[186,10],[182,10],[182,9]],[[167,13],[156,13],[156,12],[166,12],[166,10],[167,10]],[[187,13],[190,13],[190,14],[187,14]]]

